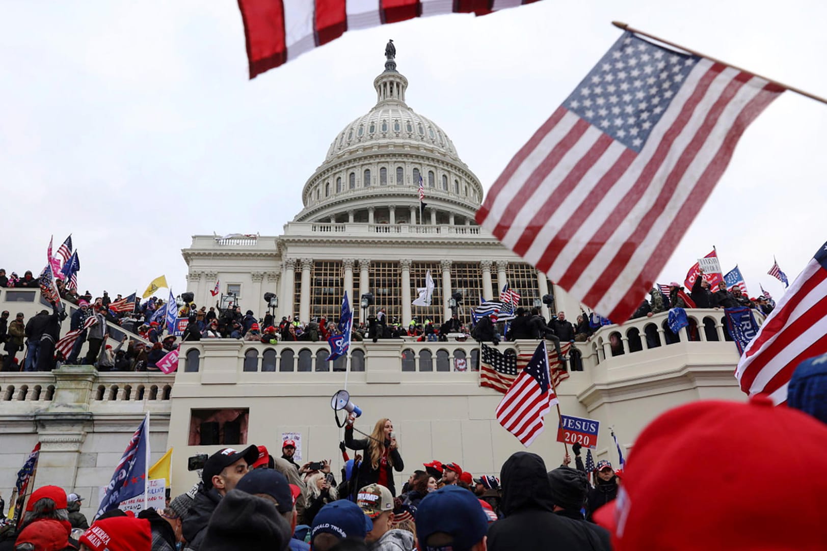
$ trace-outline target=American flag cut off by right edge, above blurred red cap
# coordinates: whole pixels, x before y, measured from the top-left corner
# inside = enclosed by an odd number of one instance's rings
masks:
[[[827,352],[827,243],[815,253],[744,349],[735,370],[749,396],[786,401],[792,372]]]

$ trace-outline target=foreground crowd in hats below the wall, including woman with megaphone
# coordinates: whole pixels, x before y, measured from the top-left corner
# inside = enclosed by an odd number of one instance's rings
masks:
[[[397,492],[404,461],[393,423],[380,419],[356,439],[351,415],[339,477],[330,460],[299,465],[288,439],[280,456],[256,445],[218,450],[193,490],[168,495],[164,508],[111,509],[91,525],[80,496],[41,487],[19,525],[0,526],[0,551],[825,549],[827,482],[801,480],[801,469],[827,468],[825,363],[796,370],[789,407],[757,397],[666,411],[638,435],[623,470],[601,459],[587,472],[577,447],[576,468],[567,453],[549,470],[538,454],[517,452],[499,477],[434,460]],[[772,483],[756,473],[772,473]]]

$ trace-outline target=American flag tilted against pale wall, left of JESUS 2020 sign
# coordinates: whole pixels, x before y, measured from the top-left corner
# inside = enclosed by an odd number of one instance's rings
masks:
[[[548,373],[546,341],[541,340],[495,412],[500,425],[528,448],[543,432],[543,416],[555,404],[557,394]]]

